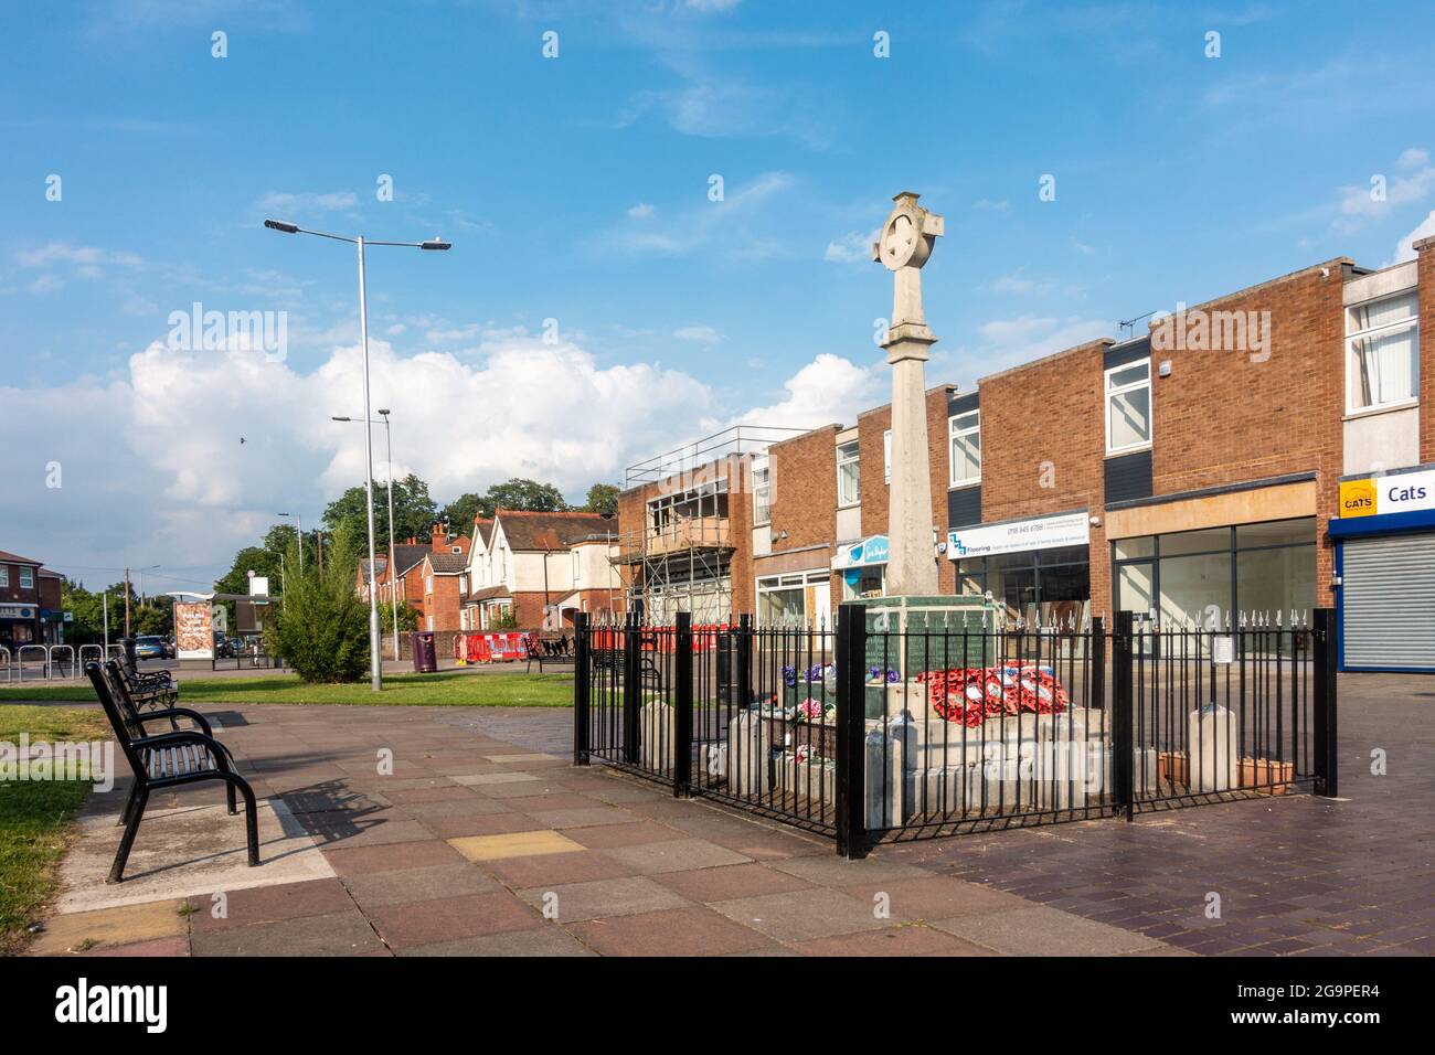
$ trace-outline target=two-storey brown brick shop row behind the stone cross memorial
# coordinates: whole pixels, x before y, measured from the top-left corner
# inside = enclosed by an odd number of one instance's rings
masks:
[[[1435,670],[1435,382],[1419,370],[1435,240],[1416,251],[1382,270],[1330,260],[971,392],[928,389],[940,589],[1027,624],[1333,606],[1347,669]],[[716,616],[829,623],[883,590],[888,423],[877,408],[772,439],[745,472],[729,458],[640,482],[620,531],[657,530],[705,477],[748,481],[751,501],[725,495],[702,524],[730,576]],[[651,576],[627,567],[644,596]]]

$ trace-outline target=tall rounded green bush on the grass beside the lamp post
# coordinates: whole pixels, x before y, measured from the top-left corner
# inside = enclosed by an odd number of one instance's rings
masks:
[[[298,551],[284,560],[298,567]],[[354,593],[357,567],[353,540],[336,533],[323,573],[307,564],[304,574],[291,571],[284,583],[265,643],[306,682],[357,682],[369,670],[369,606]]]

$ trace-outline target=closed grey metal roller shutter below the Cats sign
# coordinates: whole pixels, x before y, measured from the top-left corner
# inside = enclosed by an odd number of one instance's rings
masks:
[[[1342,545],[1345,665],[1435,670],[1435,534]]]

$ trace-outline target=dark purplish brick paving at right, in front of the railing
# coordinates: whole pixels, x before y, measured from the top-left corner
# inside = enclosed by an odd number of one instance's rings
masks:
[[[1194,953],[1435,953],[1435,680],[1342,675],[1339,692],[1346,801],[1292,795],[893,853]]]

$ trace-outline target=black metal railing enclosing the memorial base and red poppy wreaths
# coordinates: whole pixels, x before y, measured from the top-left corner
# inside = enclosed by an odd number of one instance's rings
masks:
[[[1333,613],[1230,629],[575,632],[574,762],[593,756],[835,838],[881,840],[1336,794]]]

